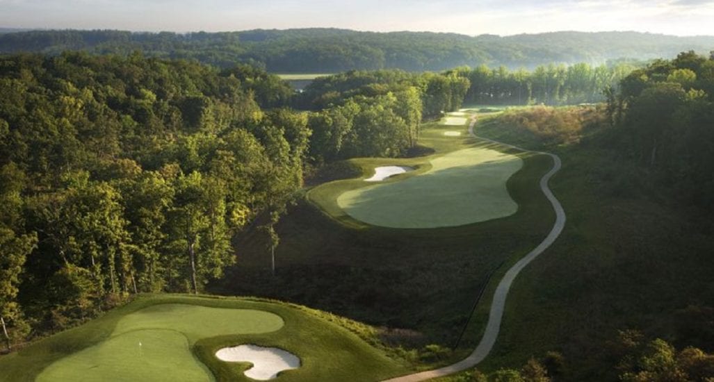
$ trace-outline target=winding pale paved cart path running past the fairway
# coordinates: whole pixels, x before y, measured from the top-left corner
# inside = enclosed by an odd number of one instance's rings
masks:
[[[563,210],[563,206],[560,205],[560,202],[558,202],[558,199],[555,198],[555,195],[553,195],[553,192],[548,187],[548,181],[550,180],[550,178],[555,175],[555,172],[558,172],[558,170],[560,170],[560,158],[558,158],[558,155],[543,153],[541,151],[526,150],[524,148],[519,148],[518,146],[508,145],[506,143],[501,143],[496,140],[479,137],[475,133],[473,133],[474,125],[476,125],[476,118],[473,118],[471,120],[471,124],[468,125],[468,133],[471,134],[474,138],[487,140],[488,142],[492,143],[498,143],[499,145],[507,146],[509,148],[514,148],[516,150],[521,150],[528,153],[548,155],[550,156],[550,158],[553,158],[553,167],[550,169],[550,171],[548,171],[547,174],[543,175],[543,177],[540,178],[540,190],[543,191],[545,197],[548,198],[550,204],[553,205],[553,210],[555,210],[555,223],[553,224],[553,228],[550,229],[550,233],[548,233],[548,236],[543,239],[543,242],[540,242],[540,244],[538,244],[538,247],[535,247],[533,250],[531,250],[531,252],[528,252],[528,254],[526,254],[525,257],[523,257],[516,264],[514,264],[511,269],[508,269],[508,272],[506,272],[506,274],[503,276],[501,282],[498,283],[498,287],[496,287],[496,292],[493,294],[493,301],[491,302],[491,311],[488,314],[488,323],[486,324],[486,331],[484,331],[483,333],[481,342],[478,344],[478,346],[476,346],[476,349],[474,349],[474,351],[468,357],[464,358],[461,361],[458,361],[457,363],[453,363],[452,365],[444,366],[443,368],[437,368],[435,370],[430,371],[422,371],[421,373],[413,373],[409,374],[408,376],[393,378],[386,382],[426,381],[427,379],[448,376],[453,373],[458,373],[459,371],[464,371],[469,368],[473,368],[474,366],[478,365],[478,363],[483,361],[483,358],[486,358],[486,356],[488,356],[488,353],[491,352],[491,349],[493,349],[493,344],[496,344],[498,331],[501,329],[503,309],[506,306],[506,297],[508,296],[508,291],[511,289],[511,284],[513,284],[513,280],[516,279],[518,273],[520,273],[521,270],[526,267],[526,265],[532,262],[535,257],[538,257],[539,254],[543,253],[545,249],[548,249],[548,247],[550,247],[550,244],[553,244],[553,242],[555,242],[555,239],[560,236],[560,232],[563,231],[563,227],[565,226],[565,210]]]

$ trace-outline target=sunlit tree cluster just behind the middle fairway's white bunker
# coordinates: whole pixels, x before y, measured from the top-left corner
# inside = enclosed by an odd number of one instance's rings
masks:
[[[468,86],[448,73],[349,71],[317,78],[296,104],[313,110],[312,158],[396,157],[416,146],[423,118],[460,108]]]

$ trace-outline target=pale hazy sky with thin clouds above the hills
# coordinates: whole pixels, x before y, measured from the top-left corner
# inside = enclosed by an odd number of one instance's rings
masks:
[[[714,35],[714,0],[0,0],[0,27],[184,32],[315,26],[468,35]]]

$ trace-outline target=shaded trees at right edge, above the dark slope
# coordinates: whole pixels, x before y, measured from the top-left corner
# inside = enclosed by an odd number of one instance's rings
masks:
[[[607,114],[624,158],[683,200],[714,209],[714,53],[680,53],[630,73],[608,97]]]

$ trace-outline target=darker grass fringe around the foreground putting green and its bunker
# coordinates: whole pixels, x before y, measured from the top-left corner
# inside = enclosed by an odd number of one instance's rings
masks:
[[[401,363],[369,346],[352,331],[336,324],[338,319],[326,314],[299,306],[251,299],[149,295],[141,296],[130,304],[114,309],[76,329],[61,332],[38,341],[22,351],[3,356],[0,358],[0,370],[2,370],[0,381],[34,381],[34,378],[54,361],[106,341],[127,314],[156,304],[196,304],[218,308],[258,309],[283,318],[285,326],[271,333],[231,334],[196,341],[192,347],[194,356],[208,365],[216,374],[218,381],[250,381],[242,375],[242,371],[248,368],[247,364],[224,363],[213,356],[213,353],[223,346],[244,343],[277,346],[298,355],[303,366],[294,371],[287,371],[281,378],[284,381],[306,379],[346,381],[355,380],[355,376],[370,381],[403,372]],[[193,324],[206,323],[203,320]],[[178,378],[178,380],[182,379]]]

